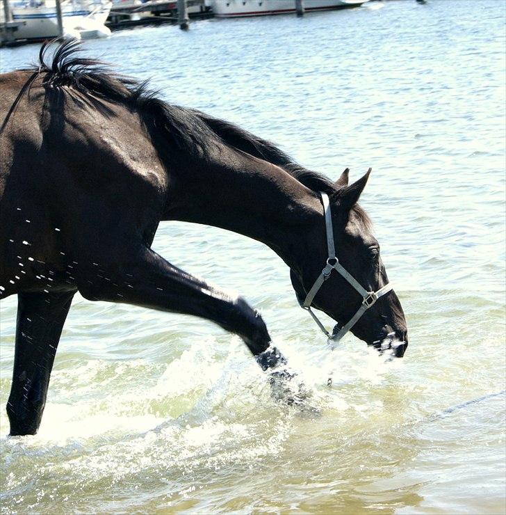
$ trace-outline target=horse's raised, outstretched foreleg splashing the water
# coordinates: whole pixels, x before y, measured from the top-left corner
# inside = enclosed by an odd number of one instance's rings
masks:
[[[85,271],[83,280],[78,282],[85,299],[203,317],[239,335],[263,370],[285,362],[279,351],[270,347],[270,335],[259,312],[241,297],[190,276],[149,248],[125,258],[126,264],[120,266],[101,262],[97,265],[100,274],[97,269],[95,274],[90,274],[90,269]]]

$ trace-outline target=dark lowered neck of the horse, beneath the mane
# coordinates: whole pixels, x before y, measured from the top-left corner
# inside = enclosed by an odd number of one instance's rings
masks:
[[[213,225],[268,245],[297,269],[323,234],[318,196],[279,166],[221,150],[172,182],[164,219]]]

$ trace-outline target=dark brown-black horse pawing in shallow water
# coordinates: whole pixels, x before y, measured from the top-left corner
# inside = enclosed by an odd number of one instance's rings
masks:
[[[158,223],[205,223],[252,237],[291,269],[304,299],[327,260],[320,191],[332,206],[339,262],[367,291],[387,282],[357,200],[368,174],[348,185],[293,163],[272,143],[229,122],[162,102],[145,84],[81,58],[76,42],[52,62],[0,77],[0,298],[18,296],[10,434],[40,425],[60,333],[79,291],[204,317],[240,335],[267,370],[284,358],[258,312],[152,251]],[[245,258],[246,259],[246,258]],[[345,324],[361,296],[336,274],[313,306]],[[352,332],[377,344],[407,328],[394,292]]]

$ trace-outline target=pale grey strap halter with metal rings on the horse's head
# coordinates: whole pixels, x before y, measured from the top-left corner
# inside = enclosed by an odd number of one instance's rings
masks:
[[[388,293],[393,288],[393,286],[391,283],[386,283],[386,285],[379,288],[379,290],[376,292],[368,292],[345,268],[343,268],[343,266],[336,258],[336,247],[334,246],[334,231],[332,229],[332,214],[330,212],[329,197],[327,196],[327,193],[323,193],[323,191],[320,191],[320,196],[322,198],[323,212],[325,214],[325,229],[327,230],[327,248],[329,257],[327,258],[327,263],[325,264],[322,273],[318,276],[318,278],[316,278],[316,281],[311,287],[311,290],[309,290],[306,299],[304,299],[303,302],[299,300],[299,303],[301,308],[309,311],[309,315],[313,317],[313,320],[316,322],[316,324],[318,324],[318,327],[325,335],[327,335],[327,342],[331,344],[332,348],[334,349],[334,344],[341,340],[341,338],[343,338],[343,336],[348,333],[348,331],[350,331],[350,329],[358,322],[359,318],[364,315],[364,313],[369,308],[374,306],[377,299]],[[325,283],[325,281],[332,274],[332,270],[336,270],[339,274],[341,274],[341,276],[343,276],[343,278],[345,278],[348,283],[350,283],[350,285],[352,285],[352,287],[354,287],[354,289],[357,290],[359,294],[361,294],[362,303],[359,310],[352,316],[348,324],[345,324],[343,327],[339,327],[339,324],[336,324],[334,331],[332,331],[331,334],[329,331],[327,331],[327,329],[325,329],[318,317],[313,313],[311,310],[311,304],[313,303],[316,294],[320,290],[320,287],[322,287],[323,283]]]

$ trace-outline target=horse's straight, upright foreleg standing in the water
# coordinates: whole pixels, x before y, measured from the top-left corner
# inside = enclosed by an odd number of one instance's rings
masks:
[[[7,402],[10,434],[35,434],[46,404],[56,347],[74,292],[19,293],[13,384]]]

